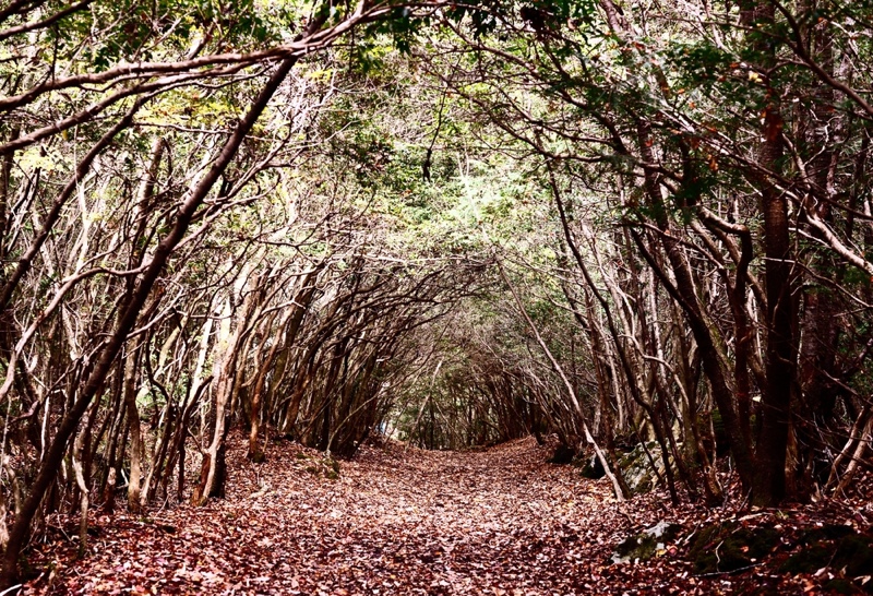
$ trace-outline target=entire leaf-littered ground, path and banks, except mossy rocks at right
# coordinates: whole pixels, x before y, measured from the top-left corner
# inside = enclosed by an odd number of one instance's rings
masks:
[[[61,539],[31,555],[44,571],[23,593],[821,594],[873,585],[835,584],[845,569],[779,568],[803,528],[869,532],[873,510],[860,500],[755,513],[669,508],[658,492],[620,503],[606,479],[545,463],[551,451],[534,439],[464,453],[367,445],[338,475],[322,454],[287,441],[271,443],[263,464],[243,453],[234,438],[225,500],[148,516],[95,512],[84,559],[62,538],[76,521],[58,518]],[[610,563],[618,544],[662,520],[684,537],[658,545],[649,561]],[[776,527],[779,540],[746,569],[699,573],[689,545],[713,520]],[[703,547],[718,555],[720,546]]]

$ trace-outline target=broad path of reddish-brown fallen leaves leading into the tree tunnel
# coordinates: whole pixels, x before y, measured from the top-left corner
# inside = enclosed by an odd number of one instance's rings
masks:
[[[338,479],[287,442],[261,465],[242,453],[236,439],[226,500],[97,514],[92,555],[27,592],[583,594],[631,525],[606,482],[545,464],[533,439],[468,453],[364,446]]]

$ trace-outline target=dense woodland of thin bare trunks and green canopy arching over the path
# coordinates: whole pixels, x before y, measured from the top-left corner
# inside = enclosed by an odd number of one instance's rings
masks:
[[[226,440],[870,469],[873,4],[4,0],[0,585]]]

